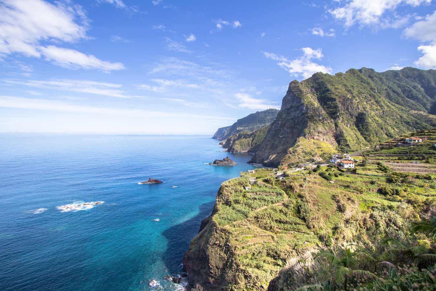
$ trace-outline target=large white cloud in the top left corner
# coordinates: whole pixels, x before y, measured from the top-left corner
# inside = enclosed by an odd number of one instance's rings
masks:
[[[43,0],[2,0],[0,15],[0,55],[45,56],[66,68],[98,68],[106,72],[123,68],[121,63],[103,62],[93,55],[41,44],[89,39],[86,35],[89,19],[77,4],[70,1],[51,4]]]

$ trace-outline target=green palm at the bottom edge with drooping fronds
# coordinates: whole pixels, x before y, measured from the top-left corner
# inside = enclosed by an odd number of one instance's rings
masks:
[[[358,257],[368,257],[368,254],[359,248],[352,250],[350,246],[347,246],[343,254],[338,254],[333,250],[320,250],[314,258],[317,257],[323,257],[329,261],[330,267],[333,268],[334,280],[337,283],[343,282],[345,290],[347,290],[348,279],[351,277],[378,279],[369,271],[354,269],[358,265]]]

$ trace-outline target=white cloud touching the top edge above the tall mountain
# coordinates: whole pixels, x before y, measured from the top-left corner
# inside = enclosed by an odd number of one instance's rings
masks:
[[[351,27],[356,23],[361,26],[386,24],[388,18],[383,16],[387,11],[394,11],[399,5],[416,7],[429,4],[431,0],[348,0],[345,3],[344,6],[330,9],[328,12],[335,19],[344,21],[345,27]]]

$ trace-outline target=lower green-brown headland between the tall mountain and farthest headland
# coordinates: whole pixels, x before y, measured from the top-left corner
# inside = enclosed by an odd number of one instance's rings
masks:
[[[254,153],[257,151],[267,132],[267,126],[261,127],[254,132],[242,131],[221,141],[220,145],[227,149],[228,152]]]

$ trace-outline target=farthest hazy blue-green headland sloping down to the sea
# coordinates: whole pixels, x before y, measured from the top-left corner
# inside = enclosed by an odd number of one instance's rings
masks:
[[[236,135],[242,131],[253,132],[261,127],[267,126],[276,119],[277,109],[268,109],[252,113],[244,118],[238,119],[235,123],[228,127],[218,128],[214,136],[215,140],[225,140],[232,135]]]

